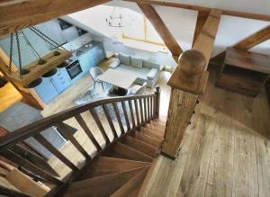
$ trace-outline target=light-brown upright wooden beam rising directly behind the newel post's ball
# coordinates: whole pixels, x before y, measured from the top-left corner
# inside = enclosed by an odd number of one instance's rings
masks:
[[[212,9],[209,13],[206,22],[204,22],[202,31],[193,44],[193,49],[200,50],[208,61],[211,58],[211,50],[217,35],[220,24],[221,11]]]

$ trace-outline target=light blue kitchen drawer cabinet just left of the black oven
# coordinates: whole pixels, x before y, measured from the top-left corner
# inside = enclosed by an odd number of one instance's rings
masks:
[[[54,76],[51,76],[51,78],[52,83],[57,88],[58,93],[63,92],[71,85],[66,68],[59,68],[58,72]]]

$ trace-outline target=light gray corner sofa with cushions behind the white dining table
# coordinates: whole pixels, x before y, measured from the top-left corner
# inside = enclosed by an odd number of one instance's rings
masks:
[[[156,85],[160,71],[164,68],[148,60],[121,53],[119,54],[119,59],[112,62],[109,67],[137,76],[135,83],[142,85],[144,82],[147,82],[148,87]]]

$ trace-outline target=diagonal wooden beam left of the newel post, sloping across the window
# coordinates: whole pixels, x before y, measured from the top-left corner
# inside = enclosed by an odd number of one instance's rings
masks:
[[[148,18],[149,22],[153,24],[162,40],[164,40],[166,47],[171,51],[173,57],[177,59],[183,50],[178,45],[171,32],[167,29],[166,24],[162,21],[155,8],[150,4],[138,3],[138,6]]]

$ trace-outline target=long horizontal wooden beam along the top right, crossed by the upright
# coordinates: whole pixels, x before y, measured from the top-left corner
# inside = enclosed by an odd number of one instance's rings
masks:
[[[164,2],[164,1],[153,1],[153,0],[124,0],[128,2],[139,2],[140,4],[158,4],[163,6],[169,6],[169,7],[178,7],[178,8],[184,8],[188,10],[195,10],[195,11],[202,11],[202,12],[210,12],[211,7],[204,7],[199,5],[193,5],[193,4],[178,4],[178,3],[171,3],[171,2]],[[270,22],[270,15],[266,14],[259,14],[259,13],[245,13],[245,12],[238,12],[238,11],[232,11],[232,10],[223,10],[222,14],[224,15],[231,15],[231,16],[238,16],[242,18],[248,18],[248,19],[257,19],[261,21],[267,21]]]

